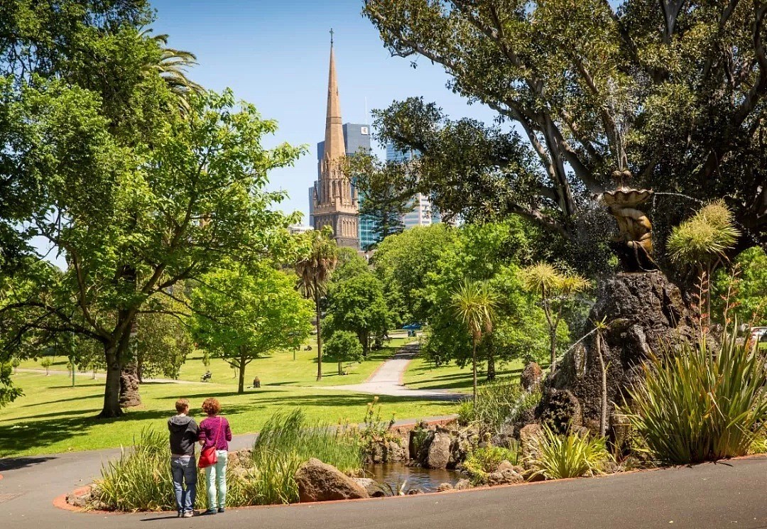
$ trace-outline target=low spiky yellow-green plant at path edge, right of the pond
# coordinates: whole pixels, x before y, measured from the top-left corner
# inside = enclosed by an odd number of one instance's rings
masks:
[[[604,437],[574,433],[559,435],[548,426],[536,441],[537,455],[530,459],[536,473],[547,479],[580,478],[601,473],[610,458]]]

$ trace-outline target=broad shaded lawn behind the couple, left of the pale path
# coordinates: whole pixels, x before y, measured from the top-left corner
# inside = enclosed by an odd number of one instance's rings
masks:
[[[120,419],[96,419],[94,416],[100,412],[104,399],[103,380],[77,377],[77,385],[72,388],[66,374],[45,376],[20,372],[13,378],[25,396],[0,409],[0,457],[129,445],[143,428],[164,431],[166,419],[175,412],[173,403],[182,396],[191,401],[196,416],[201,413],[199,406],[203,399],[209,396],[219,399],[235,435],[258,432],[272,413],[296,406],[311,420],[360,422],[367,403],[373,398],[360,393],[283,386],[262,386],[238,395],[235,381],[228,384],[150,383],[141,386],[142,406],[129,409],[127,416]],[[420,419],[446,415],[456,409],[454,403],[401,397],[382,396],[380,403],[384,419],[392,413],[397,419]]]

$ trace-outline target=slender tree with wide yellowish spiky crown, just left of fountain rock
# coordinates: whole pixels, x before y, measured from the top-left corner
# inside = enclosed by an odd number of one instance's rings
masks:
[[[527,291],[541,297],[541,306],[548,323],[549,353],[551,364],[549,370],[557,370],[557,328],[562,319],[565,302],[574,294],[586,290],[589,286],[587,279],[572,272],[559,271],[545,262],[538,262],[522,271],[522,283]]]

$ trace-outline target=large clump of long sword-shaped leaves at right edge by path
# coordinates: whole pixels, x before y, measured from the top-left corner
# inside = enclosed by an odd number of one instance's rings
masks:
[[[745,455],[767,420],[765,384],[763,360],[725,334],[716,353],[701,341],[676,357],[651,359],[624,412],[660,462]]]

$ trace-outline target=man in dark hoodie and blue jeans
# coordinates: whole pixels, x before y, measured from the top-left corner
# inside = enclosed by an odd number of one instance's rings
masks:
[[[194,501],[197,495],[197,463],[194,445],[198,437],[197,423],[189,416],[189,401],[176,401],[178,415],[168,419],[170,430],[170,470],[173,473],[173,488],[176,491],[176,507],[180,517],[194,515]],[[183,485],[186,484],[186,489]]]

